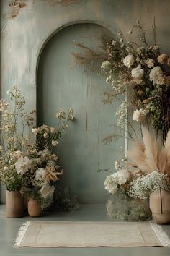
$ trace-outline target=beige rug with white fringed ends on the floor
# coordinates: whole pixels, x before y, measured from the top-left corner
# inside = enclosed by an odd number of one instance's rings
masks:
[[[27,221],[15,247],[155,247],[170,246],[161,226],[144,222]]]

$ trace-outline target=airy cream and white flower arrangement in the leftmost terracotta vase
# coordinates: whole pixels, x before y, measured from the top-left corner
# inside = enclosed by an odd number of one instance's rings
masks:
[[[27,114],[24,111],[25,100],[21,90],[14,86],[8,90],[12,106],[6,101],[0,101],[1,111],[1,157],[0,157],[0,179],[9,191],[19,191],[23,182],[23,171],[16,169],[15,163],[22,158],[23,170],[30,168],[30,161],[25,156],[27,148],[32,144],[30,137],[32,126],[35,122],[35,111]],[[25,134],[27,129],[27,134]]]

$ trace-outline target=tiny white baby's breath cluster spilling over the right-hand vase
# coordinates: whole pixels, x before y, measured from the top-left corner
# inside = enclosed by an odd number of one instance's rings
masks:
[[[158,171],[153,171],[151,174],[139,176],[130,184],[130,197],[146,200],[151,192],[156,192],[159,189],[170,189],[166,174],[161,174]]]

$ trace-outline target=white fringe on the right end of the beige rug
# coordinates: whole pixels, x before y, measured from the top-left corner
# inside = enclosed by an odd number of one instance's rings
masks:
[[[159,241],[164,247],[170,247],[170,238],[166,234],[166,232],[162,229],[161,225],[154,223],[153,221],[149,221],[151,228],[153,229],[154,233],[158,237]]]

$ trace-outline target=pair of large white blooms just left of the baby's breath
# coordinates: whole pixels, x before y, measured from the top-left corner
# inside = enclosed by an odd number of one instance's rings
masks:
[[[127,170],[119,169],[116,173],[107,176],[104,182],[104,187],[110,194],[115,194],[119,189],[118,186],[128,182],[129,178],[130,174]]]

